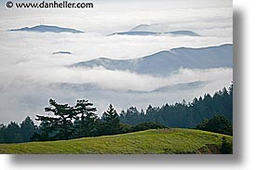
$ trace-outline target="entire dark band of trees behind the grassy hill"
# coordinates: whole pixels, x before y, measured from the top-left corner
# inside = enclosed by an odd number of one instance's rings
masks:
[[[99,137],[165,127],[198,128],[232,135],[233,85],[212,97],[205,95],[191,103],[183,100],[161,108],[149,105],[146,111],[130,107],[118,115],[110,105],[101,118],[86,99],[77,100],[74,106],[49,99],[45,111],[47,115],[36,115],[38,126],[30,117],[21,124],[0,124],[0,143]]]

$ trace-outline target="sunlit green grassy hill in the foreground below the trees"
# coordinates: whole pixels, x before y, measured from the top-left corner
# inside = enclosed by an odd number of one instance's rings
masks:
[[[222,137],[193,129],[161,129],[72,140],[0,144],[0,153],[12,154],[169,154],[220,153]]]

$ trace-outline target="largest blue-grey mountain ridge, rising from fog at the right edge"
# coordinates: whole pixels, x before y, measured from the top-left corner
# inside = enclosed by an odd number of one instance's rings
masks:
[[[166,76],[180,68],[233,68],[233,45],[200,48],[178,47],[139,59],[100,58],[78,62],[69,67],[103,67],[112,71],[128,71],[156,76]]]

